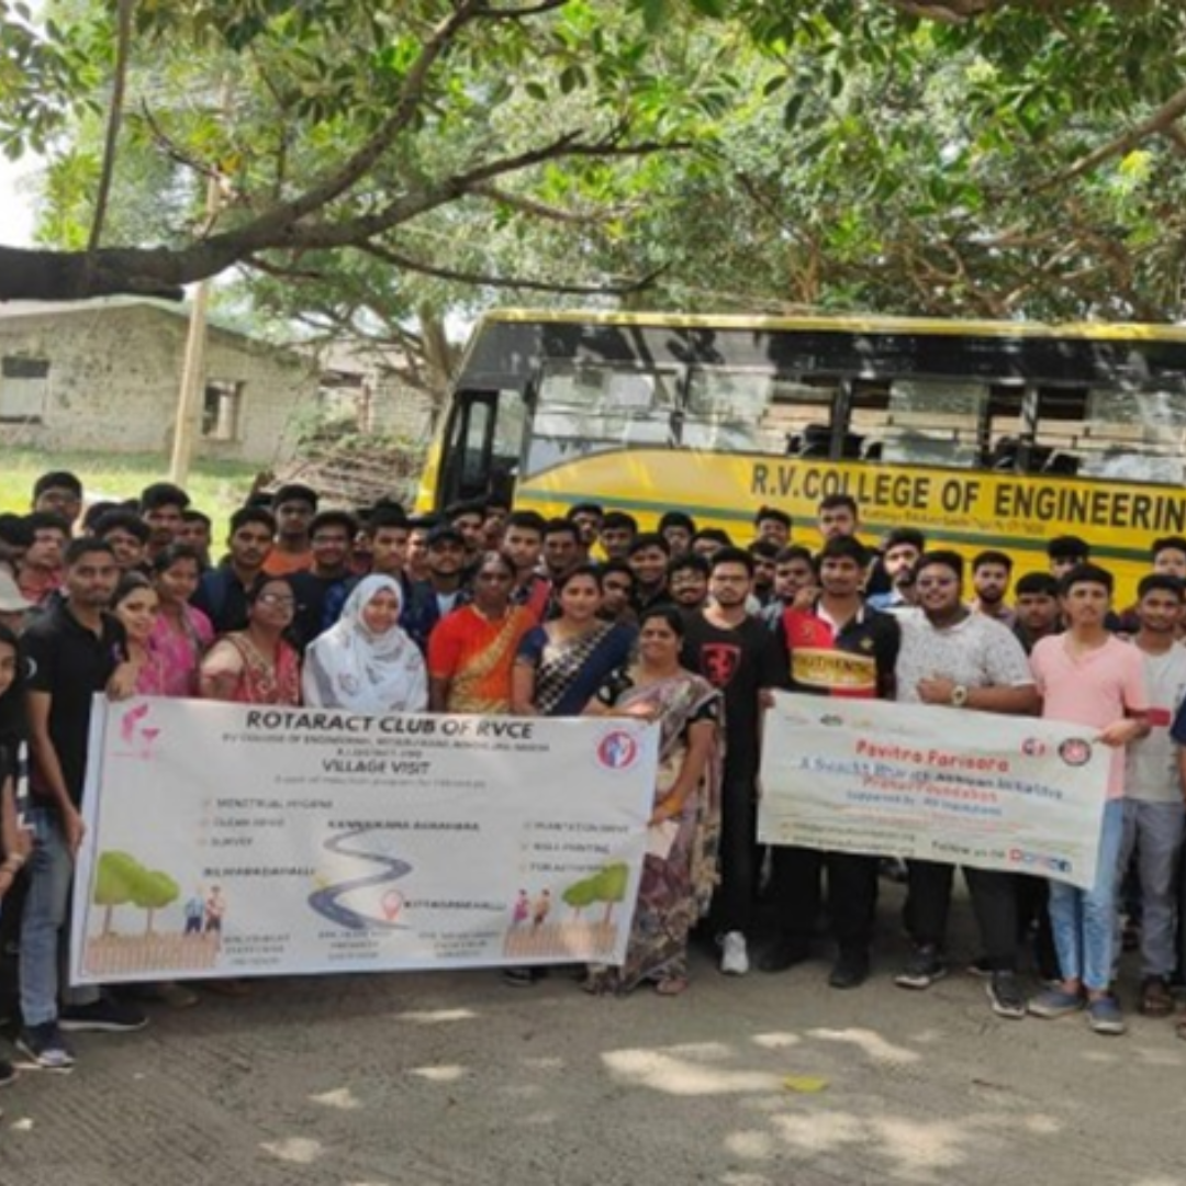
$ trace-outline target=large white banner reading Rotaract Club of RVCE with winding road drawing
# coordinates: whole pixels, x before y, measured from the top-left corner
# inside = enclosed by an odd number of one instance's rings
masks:
[[[100,707],[74,983],[620,964],[657,728]]]

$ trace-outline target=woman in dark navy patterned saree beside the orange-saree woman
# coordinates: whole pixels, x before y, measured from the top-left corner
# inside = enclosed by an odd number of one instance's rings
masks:
[[[518,716],[579,716],[610,674],[630,658],[637,631],[602,621],[601,581],[581,565],[553,582],[560,617],[523,636],[511,674]]]

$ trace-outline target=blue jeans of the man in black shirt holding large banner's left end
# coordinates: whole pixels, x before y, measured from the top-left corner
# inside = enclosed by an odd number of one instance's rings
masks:
[[[57,812],[32,808],[28,825],[33,855],[28,862],[28,894],[20,929],[20,1014],[26,1026],[58,1019],[58,991],[70,937],[70,885],[74,857],[66,847]],[[97,988],[60,988],[68,1005],[91,1005]]]

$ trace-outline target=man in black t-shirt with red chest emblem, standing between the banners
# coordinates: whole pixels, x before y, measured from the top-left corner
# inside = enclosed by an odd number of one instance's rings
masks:
[[[725,695],[725,785],[721,789],[721,885],[715,913],[723,933],[721,971],[750,970],[746,933],[752,926],[758,878],[758,765],[761,715],[779,682],[770,631],[746,613],[753,591],[753,557],[722,548],[712,559],[709,604],[688,614],[684,667]]]

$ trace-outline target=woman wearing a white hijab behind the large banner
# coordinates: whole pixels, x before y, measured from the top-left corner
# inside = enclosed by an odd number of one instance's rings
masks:
[[[416,644],[400,627],[403,599],[391,576],[365,576],[342,617],[305,653],[305,703],[370,716],[422,713],[428,674]]]

